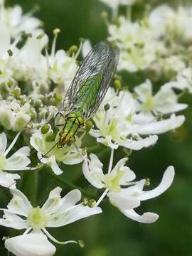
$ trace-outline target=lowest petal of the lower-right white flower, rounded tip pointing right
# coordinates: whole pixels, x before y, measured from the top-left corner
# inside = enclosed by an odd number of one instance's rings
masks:
[[[144,213],[142,215],[139,215],[133,209],[121,210],[121,212],[128,218],[138,221],[139,223],[154,223],[159,218],[159,215],[156,213]]]

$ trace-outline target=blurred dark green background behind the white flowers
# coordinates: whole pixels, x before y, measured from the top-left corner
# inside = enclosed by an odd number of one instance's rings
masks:
[[[161,4],[163,1],[151,2]],[[185,1],[183,2],[185,4]],[[9,0],[6,3],[11,6],[20,4],[25,12],[38,4],[40,10],[36,16],[45,23],[46,33],[50,38],[53,38],[54,28],[61,29],[58,48],[67,50],[73,44],[78,45],[79,38],[90,38],[94,44],[107,36],[107,28],[100,14],[102,11],[110,10],[98,0]],[[176,4],[176,1],[170,0],[169,3]],[[138,4],[134,13],[137,14],[137,11],[139,13],[142,8],[143,6]],[[129,83],[131,84],[132,81],[130,80]],[[159,136],[159,141],[154,147],[134,152],[128,163],[136,172],[138,179],[151,178],[151,188],[161,181],[167,166],[175,166],[176,178],[169,191],[159,198],[144,202],[143,206],[137,209],[139,213],[143,211],[159,213],[159,220],[149,225],[136,223],[109,203],[102,203],[101,215],[50,230],[58,240],[85,241],[84,249],[76,245],[57,245],[55,255],[192,255],[192,97],[187,95],[182,100],[189,104],[184,112],[186,122],[183,127]],[[109,151],[101,156],[106,163],[108,154]],[[122,155],[122,152],[119,154]],[[115,161],[119,159],[119,154],[115,154]],[[69,169],[69,176],[73,176],[74,168]],[[74,170],[75,175],[77,171],[80,175],[80,168]],[[5,235],[6,229],[1,228],[1,234]],[[6,253],[6,250],[1,250],[1,255]]]

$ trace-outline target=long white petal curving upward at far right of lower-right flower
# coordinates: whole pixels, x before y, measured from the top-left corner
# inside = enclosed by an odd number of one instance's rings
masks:
[[[169,166],[164,172],[164,176],[159,186],[152,189],[151,191],[143,191],[142,195],[138,196],[137,199],[144,201],[161,195],[161,193],[164,193],[164,191],[166,191],[171,186],[171,183],[174,181],[174,175],[174,166]]]

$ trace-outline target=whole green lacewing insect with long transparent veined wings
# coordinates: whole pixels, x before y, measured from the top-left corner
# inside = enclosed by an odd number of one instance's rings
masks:
[[[93,46],[78,68],[64,101],[65,124],[58,147],[70,142],[80,127],[97,112],[117,68],[119,48],[108,41]]]

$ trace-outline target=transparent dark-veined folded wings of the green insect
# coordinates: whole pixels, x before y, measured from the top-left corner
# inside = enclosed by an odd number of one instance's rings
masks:
[[[84,118],[95,114],[110,86],[118,60],[117,46],[110,46],[108,41],[97,43],[82,61],[73,78],[63,102],[64,111],[75,111],[83,100]]]

